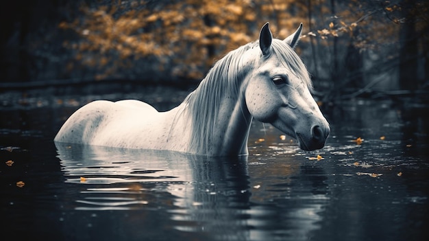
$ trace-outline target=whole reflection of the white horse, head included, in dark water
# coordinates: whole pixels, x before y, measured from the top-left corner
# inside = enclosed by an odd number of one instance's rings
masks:
[[[277,175],[267,170],[270,173],[267,179],[259,179],[259,189],[249,186],[247,157],[212,158],[167,151],[56,145],[66,183],[74,183],[78,192],[71,196],[74,200],[70,205],[84,211],[84,216],[99,210],[132,210],[127,212],[128,218],[121,218],[120,225],[121,229],[131,229],[127,231],[128,240],[140,237],[136,230],[148,228],[142,224],[153,226],[154,222],[159,225],[158,238],[162,229],[177,231],[164,232],[166,239],[191,232],[205,240],[305,240],[310,231],[319,228],[319,213],[328,199],[321,192],[326,188],[321,175],[316,173],[322,171],[299,168],[293,158],[278,163],[278,167],[284,167],[278,174],[286,173],[285,183],[271,182],[269,179]],[[260,176],[264,168],[267,166],[259,163],[259,174],[254,176]],[[304,173],[300,175],[304,178],[291,179],[290,170]],[[293,196],[291,190],[295,192]],[[267,196],[258,196],[261,193]],[[279,208],[285,211],[278,212]],[[68,220],[82,222],[79,217]],[[108,225],[115,227],[114,223]],[[75,226],[64,225],[66,229]]]

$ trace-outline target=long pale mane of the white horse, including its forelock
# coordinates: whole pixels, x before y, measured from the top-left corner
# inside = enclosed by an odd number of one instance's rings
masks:
[[[209,152],[210,137],[215,133],[219,106],[223,97],[239,95],[241,80],[252,67],[251,65],[241,66],[241,57],[245,51],[256,46],[259,46],[258,41],[230,51],[215,63],[197,89],[184,100],[188,113],[191,113],[193,130],[189,152],[196,154]],[[273,53],[282,65],[296,73],[297,77],[304,80],[311,90],[312,84],[308,71],[295,51],[278,39],[273,39],[272,47]]]

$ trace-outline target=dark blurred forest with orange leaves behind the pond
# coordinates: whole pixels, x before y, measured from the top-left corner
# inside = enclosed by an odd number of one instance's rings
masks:
[[[428,10],[424,0],[9,1],[0,88],[197,84],[269,21],[276,38],[304,23],[296,51],[325,99],[427,96]]]

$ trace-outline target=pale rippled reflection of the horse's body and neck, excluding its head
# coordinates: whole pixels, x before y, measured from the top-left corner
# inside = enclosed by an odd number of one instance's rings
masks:
[[[204,230],[210,236],[248,238],[246,220],[236,216],[249,209],[247,156],[215,158],[59,143],[56,147],[66,182],[79,184],[71,203],[74,209],[136,211],[121,227],[145,229],[142,223],[167,216],[160,220],[160,229],[167,225],[179,232]],[[225,231],[227,227],[236,229]]]

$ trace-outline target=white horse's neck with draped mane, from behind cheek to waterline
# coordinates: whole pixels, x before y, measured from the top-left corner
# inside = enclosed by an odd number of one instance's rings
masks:
[[[244,98],[245,71],[225,56],[213,67],[186,104],[192,120],[189,152],[208,155],[247,154],[252,116]]]

